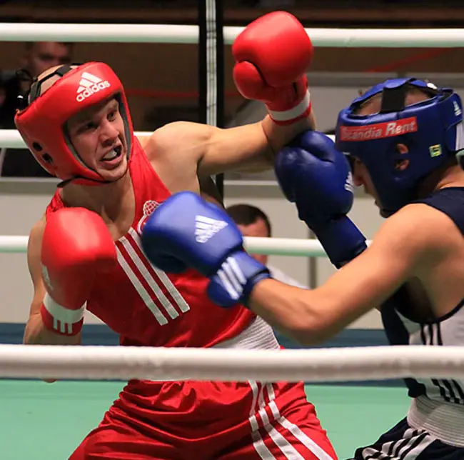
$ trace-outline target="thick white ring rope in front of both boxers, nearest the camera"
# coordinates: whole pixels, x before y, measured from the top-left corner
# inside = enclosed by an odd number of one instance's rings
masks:
[[[463,346],[241,350],[0,345],[0,376],[55,379],[362,381],[464,378]]]

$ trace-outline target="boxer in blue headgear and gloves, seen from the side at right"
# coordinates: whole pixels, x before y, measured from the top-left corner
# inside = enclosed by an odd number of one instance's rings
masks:
[[[378,308],[393,345],[464,345],[462,110],[452,89],[388,80],[340,112],[336,144],[307,132],[279,152],[283,193],[339,269],[317,289],[271,279],[243,250],[226,213],[188,192],[153,213],[143,248],[165,271],[193,267],[208,276],[208,295],[218,306],[240,301],[302,344],[325,341]],[[347,216],[352,179],[388,217],[368,248]],[[211,219],[201,238],[199,216]],[[353,458],[464,459],[464,381],[405,384],[405,419]]]

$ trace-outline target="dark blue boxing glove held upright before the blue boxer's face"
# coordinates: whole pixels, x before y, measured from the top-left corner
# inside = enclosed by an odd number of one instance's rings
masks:
[[[276,176],[332,264],[340,268],[364,251],[365,237],[346,216],[353,205],[350,165],[328,136],[306,131],[293,139],[276,156]]]

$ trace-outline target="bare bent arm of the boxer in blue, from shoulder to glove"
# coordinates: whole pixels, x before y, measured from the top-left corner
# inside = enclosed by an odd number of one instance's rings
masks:
[[[407,206],[385,221],[363,254],[322,286],[308,291],[264,280],[253,289],[251,309],[301,344],[326,341],[424,267],[449,257],[456,235],[453,222],[440,211],[423,204]]]

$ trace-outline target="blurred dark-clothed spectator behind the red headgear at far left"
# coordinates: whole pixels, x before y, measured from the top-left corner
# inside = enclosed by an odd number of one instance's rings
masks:
[[[14,113],[18,106],[18,96],[26,93],[31,86],[31,78],[49,67],[66,64],[71,59],[72,45],[55,41],[26,43],[21,68],[26,72],[4,71],[0,74],[0,128],[16,129]],[[31,78],[27,77],[30,74]],[[27,149],[0,149],[0,175],[6,177],[50,177],[35,161]]]

